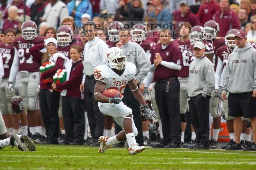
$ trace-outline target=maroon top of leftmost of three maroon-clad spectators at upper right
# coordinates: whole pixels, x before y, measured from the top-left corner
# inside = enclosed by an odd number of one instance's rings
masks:
[[[177,10],[173,12],[173,16],[176,23],[189,22],[192,27],[196,25],[200,25],[199,19],[191,11],[188,11],[187,14],[184,17],[182,17],[180,10]]]

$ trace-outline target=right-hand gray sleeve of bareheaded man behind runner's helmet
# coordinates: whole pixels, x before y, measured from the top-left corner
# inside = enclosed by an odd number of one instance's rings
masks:
[[[138,65],[139,73],[136,80],[140,83],[146,78],[147,73],[150,71],[150,61],[147,58],[146,52],[139,45],[136,48],[137,56],[135,57]]]

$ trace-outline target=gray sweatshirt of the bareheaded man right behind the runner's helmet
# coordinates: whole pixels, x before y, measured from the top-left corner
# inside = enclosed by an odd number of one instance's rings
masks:
[[[123,45],[121,49],[124,50],[127,61],[135,64],[137,67],[134,79],[142,83],[151,67],[151,62],[148,59],[146,52],[139,44],[131,41]]]

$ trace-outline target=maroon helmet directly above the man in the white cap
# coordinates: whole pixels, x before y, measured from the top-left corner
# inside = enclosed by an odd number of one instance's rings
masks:
[[[191,44],[202,42],[204,40],[204,27],[194,26],[190,31],[189,40]]]

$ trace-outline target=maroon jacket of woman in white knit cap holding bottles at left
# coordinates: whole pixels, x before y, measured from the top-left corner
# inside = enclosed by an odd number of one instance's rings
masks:
[[[38,44],[29,49],[30,54],[33,58],[41,65],[42,56],[44,53],[41,53],[40,50],[44,48],[44,44]],[[63,58],[58,57],[55,66],[47,71],[41,73],[40,78],[40,89],[52,89],[52,83],[44,83],[43,79],[52,78],[58,69],[63,69]]]

